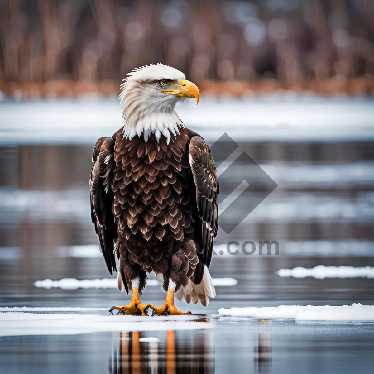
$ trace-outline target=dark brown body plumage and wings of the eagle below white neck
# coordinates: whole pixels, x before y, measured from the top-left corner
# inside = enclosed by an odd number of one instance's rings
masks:
[[[209,266],[218,229],[218,178],[208,145],[185,128],[169,144],[153,134],[100,138],[93,153],[91,215],[108,270],[115,255],[126,291],[147,273],[176,290],[195,285]],[[114,242],[116,245],[114,247]]]

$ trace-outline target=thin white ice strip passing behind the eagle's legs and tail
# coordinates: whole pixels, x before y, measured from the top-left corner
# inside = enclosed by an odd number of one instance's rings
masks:
[[[215,286],[235,286],[237,280],[234,278],[213,278]],[[161,282],[157,279],[148,279],[147,286],[159,286]],[[62,289],[78,289],[78,288],[117,288],[116,278],[102,278],[102,279],[82,279],[63,278],[59,281],[52,281],[52,279],[44,279],[43,281],[34,282],[37,288],[62,288]]]

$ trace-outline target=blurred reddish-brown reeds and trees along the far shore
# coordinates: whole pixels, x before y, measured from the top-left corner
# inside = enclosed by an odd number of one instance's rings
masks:
[[[0,0],[0,89],[107,96],[162,62],[213,94],[373,95],[373,20],[373,0]]]

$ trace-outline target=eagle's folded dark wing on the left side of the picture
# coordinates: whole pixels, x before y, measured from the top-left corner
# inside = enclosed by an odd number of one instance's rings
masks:
[[[113,254],[114,242],[117,240],[117,228],[111,211],[114,193],[111,189],[114,166],[114,139],[100,138],[92,156],[93,166],[90,178],[91,219],[95,224],[96,233],[105,263],[110,274],[116,269]]]

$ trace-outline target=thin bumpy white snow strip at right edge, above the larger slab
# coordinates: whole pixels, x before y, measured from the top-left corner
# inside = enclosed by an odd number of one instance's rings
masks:
[[[353,267],[353,266],[324,266],[318,265],[312,269],[305,267],[294,267],[293,269],[279,269],[276,275],[287,278],[374,278],[374,267]]]

